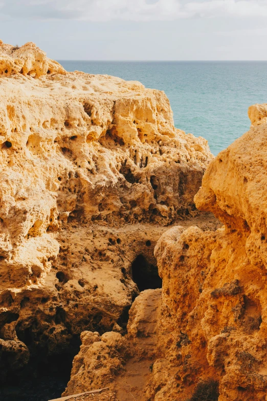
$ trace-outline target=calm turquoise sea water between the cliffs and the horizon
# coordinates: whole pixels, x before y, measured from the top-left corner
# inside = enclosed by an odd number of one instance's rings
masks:
[[[267,61],[60,61],[68,71],[138,80],[170,99],[176,128],[208,139],[214,155],[248,131],[267,102]]]

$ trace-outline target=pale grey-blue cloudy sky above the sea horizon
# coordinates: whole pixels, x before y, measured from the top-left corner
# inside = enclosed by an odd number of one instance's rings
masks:
[[[0,39],[55,59],[266,60],[267,0],[0,0]]]

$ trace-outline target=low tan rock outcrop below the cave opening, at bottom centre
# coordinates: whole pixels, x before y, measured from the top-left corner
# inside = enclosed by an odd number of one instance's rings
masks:
[[[169,362],[160,359],[153,364],[158,355],[160,311],[161,289],[144,290],[129,311],[125,336],[112,331],[100,339],[98,332],[83,332],[80,352],[74,358],[71,379],[62,395],[108,387],[110,398],[116,401],[144,401],[152,368],[155,386],[166,383],[168,378],[161,371]]]

